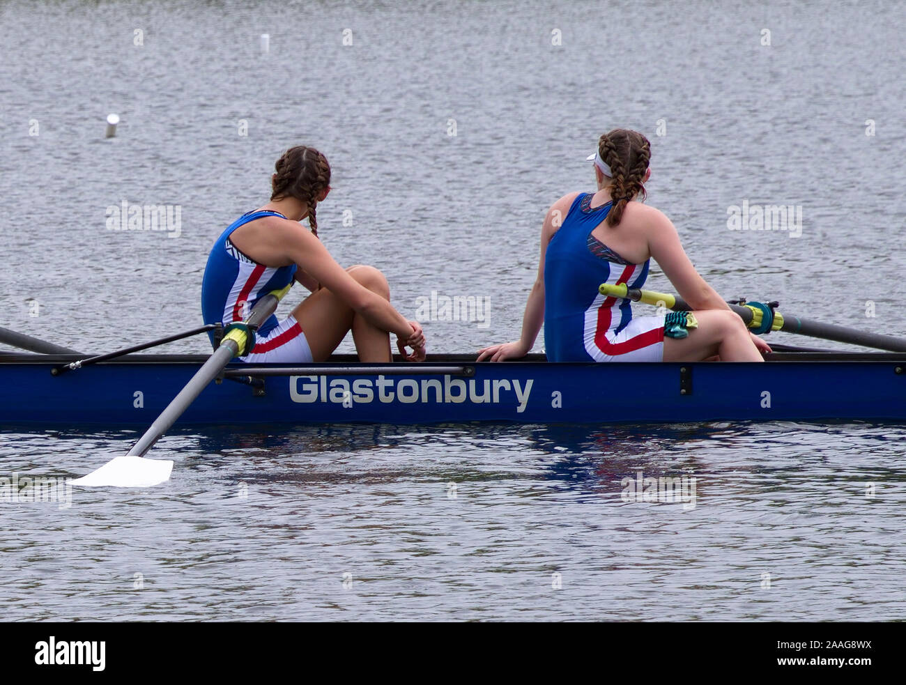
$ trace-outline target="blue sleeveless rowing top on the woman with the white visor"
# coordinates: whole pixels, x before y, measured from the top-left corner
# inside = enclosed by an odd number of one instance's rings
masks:
[[[591,207],[593,193],[580,193],[545,253],[545,352],[550,362],[593,362],[586,345],[603,324],[619,333],[630,323],[630,300],[604,297],[602,283],[641,288],[650,259],[632,264],[592,235],[612,203]]]

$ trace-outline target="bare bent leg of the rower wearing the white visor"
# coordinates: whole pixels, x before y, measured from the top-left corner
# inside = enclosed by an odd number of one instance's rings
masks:
[[[664,362],[700,362],[719,355],[722,362],[764,362],[737,314],[722,309],[695,312],[698,328],[685,338],[664,338]]]

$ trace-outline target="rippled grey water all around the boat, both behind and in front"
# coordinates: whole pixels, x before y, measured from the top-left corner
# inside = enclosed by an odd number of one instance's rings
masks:
[[[651,138],[651,204],[719,292],[906,334],[904,14],[0,3],[0,325],[91,352],[198,325],[213,238],[307,142],[333,164],[319,222],[342,264],[380,266],[405,314],[432,290],[492,298],[487,328],[426,322],[431,351],[512,339],[545,208],[591,188],[584,156],[625,125]],[[124,198],[182,207],[180,236],[107,230]],[[745,199],[802,205],[802,236],[729,231]],[[656,271],[651,285],[670,288]],[[81,475],[135,437],[5,426],[0,477]],[[897,619],[904,438],[861,423],[177,430],[155,448],[177,462],[163,487],[0,502],[0,584],[31,598],[5,618]],[[639,471],[695,478],[694,507],[627,501]]]

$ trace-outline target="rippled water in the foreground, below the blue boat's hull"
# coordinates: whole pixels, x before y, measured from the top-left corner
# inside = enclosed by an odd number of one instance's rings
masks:
[[[6,616],[898,619],[901,440],[859,424],[178,433],[163,487],[5,507],[4,586],[40,599]],[[5,434],[0,456],[79,474],[120,444]],[[694,477],[694,502],[624,501],[639,470]]]

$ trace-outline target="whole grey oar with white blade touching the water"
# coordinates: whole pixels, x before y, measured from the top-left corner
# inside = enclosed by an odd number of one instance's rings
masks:
[[[195,401],[207,385],[224,370],[226,364],[234,357],[241,357],[255,346],[255,331],[265,323],[267,317],[274,314],[280,299],[292,284],[283,290],[275,290],[260,298],[245,322],[227,326],[220,346],[210,358],[196,371],[186,387],[167,405],[151,427],[145,431],[135,447],[123,457],[117,457],[92,471],[87,476],[76,478],[72,485],[99,487],[151,487],[166,481],[173,470],[173,462],[164,459],[146,459],[144,455],[182,416],[188,406]]]

